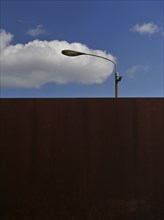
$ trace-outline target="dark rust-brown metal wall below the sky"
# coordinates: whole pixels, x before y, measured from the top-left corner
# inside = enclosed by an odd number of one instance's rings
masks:
[[[164,219],[164,99],[1,99],[2,220]]]

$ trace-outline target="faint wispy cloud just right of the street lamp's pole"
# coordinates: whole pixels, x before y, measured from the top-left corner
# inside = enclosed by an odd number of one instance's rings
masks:
[[[126,74],[129,78],[135,79],[136,76],[140,73],[146,73],[149,71],[149,66],[143,66],[143,65],[135,65],[130,67],[127,71]]]

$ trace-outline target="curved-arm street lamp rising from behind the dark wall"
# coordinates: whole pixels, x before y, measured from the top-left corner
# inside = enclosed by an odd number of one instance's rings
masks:
[[[110,60],[106,57],[98,56],[98,55],[95,55],[95,54],[83,53],[83,52],[74,51],[74,50],[62,50],[61,53],[63,55],[69,56],[69,57],[75,57],[75,56],[80,56],[80,55],[88,55],[88,56],[102,58],[104,60],[112,62],[114,64],[114,69],[115,69],[115,98],[118,98],[118,83],[121,81],[122,76],[119,76],[119,74],[117,72],[117,65],[113,60]]]

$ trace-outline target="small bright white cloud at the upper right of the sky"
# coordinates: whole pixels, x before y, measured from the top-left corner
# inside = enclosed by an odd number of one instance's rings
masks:
[[[144,24],[136,24],[131,28],[131,31],[137,32],[139,34],[148,34],[152,35],[159,32],[159,27],[153,22],[144,23]]]

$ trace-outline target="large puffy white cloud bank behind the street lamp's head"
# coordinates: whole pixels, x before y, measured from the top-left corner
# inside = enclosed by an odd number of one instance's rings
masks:
[[[103,83],[113,72],[113,64],[91,56],[67,57],[71,49],[115,58],[101,50],[91,50],[81,43],[34,40],[27,44],[9,45],[10,33],[1,31],[1,86],[39,88],[47,83]],[[8,39],[8,40],[7,40]]]

